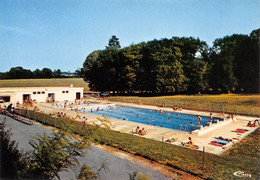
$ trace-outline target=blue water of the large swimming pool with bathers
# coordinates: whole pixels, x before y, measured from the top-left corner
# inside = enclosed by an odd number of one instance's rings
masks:
[[[152,126],[161,126],[170,129],[177,129],[181,131],[191,132],[193,130],[198,129],[197,116],[191,114],[169,111],[164,111],[160,113],[159,111],[155,112],[151,109],[141,109],[129,106],[114,106],[114,109],[110,109],[107,106],[100,107],[99,111],[97,111],[97,109],[92,110],[93,112],[91,112],[90,109],[86,109],[84,110],[84,112],[115,119],[123,119],[126,121],[149,124]],[[207,122],[209,122],[210,120],[209,117],[200,117],[202,118],[200,124],[203,126],[207,126]],[[215,119],[218,118],[213,118],[213,122]],[[193,125],[190,125],[191,122]]]

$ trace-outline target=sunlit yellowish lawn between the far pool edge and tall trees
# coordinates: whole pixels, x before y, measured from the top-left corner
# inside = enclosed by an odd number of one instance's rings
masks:
[[[175,95],[158,97],[116,96],[111,101],[142,103],[147,105],[181,106],[187,109],[226,112],[260,117],[260,95]]]

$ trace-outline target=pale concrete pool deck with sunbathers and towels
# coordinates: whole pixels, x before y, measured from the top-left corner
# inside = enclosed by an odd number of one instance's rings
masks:
[[[59,102],[62,103],[62,102]],[[148,109],[154,109],[154,110],[163,110],[163,111],[171,111],[173,112],[172,108],[161,108],[157,106],[147,106],[147,105],[137,105],[137,104],[132,104],[132,103],[121,103],[121,102],[113,102],[113,104],[118,104],[118,105],[124,105],[124,106],[134,106],[138,108],[148,108]],[[42,112],[45,113],[55,113],[55,112],[63,112],[69,115],[70,117],[76,117],[77,114],[80,117],[85,116],[88,120],[88,123],[99,123],[97,120],[96,115],[93,114],[86,114],[86,113],[77,113],[74,110],[65,110],[62,107],[59,108],[53,108],[53,107],[48,107],[46,106],[46,103],[42,104],[37,104],[37,106],[40,108]],[[100,106],[99,104],[93,104],[89,105],[89,107],[97,108]],[[202,112],[202,111],[193,111],[193,110],[186,110],[183,109],[182,111],[178,111],[178,113],[186,113],[186,114],[195,114],[195,115],[204,115],[204,116],[209,116],[209,112]],[[220,117],[219,113],[212,113],[213,117]],[[136,127],[139,126],[140,128],[145,128],[147,130],[147,134],[143,136],[144,138],[149,138],[149,139],[154,139],[157,141],[162,141],[162,138],[164,141],[166,139],[171,139],[175,138],[176,141],[173,142],[172,144],[182,146],[181,142],[187,142],[188,138],[191,137],[193,140],[193,143],[195,145],[199,146],[200,151],[203,150],[203,147],[205,147],[205,152],[212,153],[212,154],[217,154],[220,155],[223,153],[225,150],[227,150],[229,147],[231,147],[233,144],[237,143],[238,141],[242,140],[244,137],[252,133],[257,129],[257,127],[247,127],[248,121],[254,121],[257,119],[256,117],[248,117],[248,116],[236,116],[236,120],[233,122],[232,120],[225,120],[225,122],[220,122],[224,123],[221,126],[212,126],[212,127],[207,127],[208,130],[205,131],[205,133],[202,133],[201,135],[197,134],[190,134],[188,132],[184,131],[179,131],[179,130],[173,130],[173,129],[168,129],[168,128],[163,128],[163,127],[157,127],[153,125],[147,125],[147,124],[141,124],[141,123],[136,123],[132,121],[125,121],[125,120],[120,120],[120,119],[112,119],[109,118],[111,122],[111,129],[115,131],[120,131],[123,133],[132,133],[132,131],[135,131]],[[78,121],[81,121],[81,119],[77,119]],[[237,132],[232,132],[236,129],[247,129],[248,131],[245,133],[237,133]],[[203,130],[203,128],[202,128]],[[139,135],[137,135],[139,136]],[[214,145],[210,145],[209,143],[211,141],[214,141],[215,137],[222,136],[223,138],[238,138],[239,140],[233,140],[232,142],[229,142],[228,144],[224,145],[223,147],[218,147]]]

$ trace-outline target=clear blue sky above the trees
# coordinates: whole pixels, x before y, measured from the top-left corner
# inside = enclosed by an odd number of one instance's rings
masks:
[[[260,0],[1,0],[0,72],[12,67],[74,72],[105,49],[153,39],[250,34]]]

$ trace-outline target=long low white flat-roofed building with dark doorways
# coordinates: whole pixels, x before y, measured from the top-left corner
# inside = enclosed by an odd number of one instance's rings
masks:
[[[15,104],[25,100],[37,102],[74,101],[83,97],[84,88],[76,87],[8,87],[0,88],[0,99]]]

